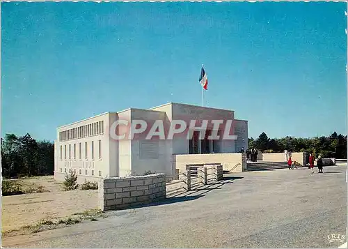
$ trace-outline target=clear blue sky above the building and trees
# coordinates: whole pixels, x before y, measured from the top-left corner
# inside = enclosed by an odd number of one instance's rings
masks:
[[[249,137],[347,133],[346,3],[1,3],[2,135],[103,112],[235,110]]]

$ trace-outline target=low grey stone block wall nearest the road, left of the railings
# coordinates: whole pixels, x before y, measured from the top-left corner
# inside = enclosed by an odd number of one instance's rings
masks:
[[[101,210],[127,209],[166,198],[166,174],[127,176],[98,182],[98,206]]]

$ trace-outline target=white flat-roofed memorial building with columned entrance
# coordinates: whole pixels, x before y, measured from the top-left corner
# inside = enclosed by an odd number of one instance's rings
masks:
[[[205,137],[201,128],[189,128],[191,139],[177,135],[173,139],[145,139],[151,127],[134,139],[114,139],[115,122],[143,120],[163,121],[170,126],[175,120],[232,120],[232,135],[237,139],[207,139],[215,128],[207,126]],[[197,125],[198,126],[198,125]],[[221,134],[222,130],[216,130]],[[120,134],[118,134],[120,135]],[[235,119],[232,110],[221,110],[180,103],[168,103],[149,110],[129,108],[121,112],[106,112],[77,121],[56,130],[54,178],[64,181],[65,174],[75,172],[78,182],[98,181],[112,176],[143,174],[146,171],[175,174],[173,155],[197,153],[235,153],[248,146],[248,122]]]

